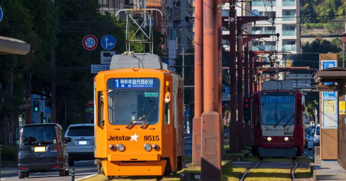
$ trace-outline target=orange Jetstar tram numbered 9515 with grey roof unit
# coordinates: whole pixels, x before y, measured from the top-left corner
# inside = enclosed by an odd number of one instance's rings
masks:
[[[117,176],[166,176],[183,167],[183,79],[154,54],[112,57],[94,78],[95,164]]]

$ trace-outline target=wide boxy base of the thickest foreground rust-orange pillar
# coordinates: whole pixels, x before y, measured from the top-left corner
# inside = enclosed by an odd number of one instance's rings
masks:
[[[221,180],[220,114],[218,112],[203,112],[201,133],[201,179]]]

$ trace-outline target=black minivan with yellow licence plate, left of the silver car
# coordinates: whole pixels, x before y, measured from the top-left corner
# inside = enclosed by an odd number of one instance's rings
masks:
[[[63,128],[60,124],[28,124],[20,130],[18,177],[29,177],[29,172],[54,172],[69,175]]]

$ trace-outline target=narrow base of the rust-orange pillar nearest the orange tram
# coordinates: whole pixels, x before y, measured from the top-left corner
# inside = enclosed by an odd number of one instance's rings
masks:
[[[193,118],[192,127],[192,163],[201,165],[201,117]]]

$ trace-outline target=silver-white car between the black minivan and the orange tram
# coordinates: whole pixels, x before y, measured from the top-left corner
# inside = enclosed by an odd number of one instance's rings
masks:
[[[65,133],[69,152],[69,165],[74,161],[94,160],[94,124],[71,124]]]

